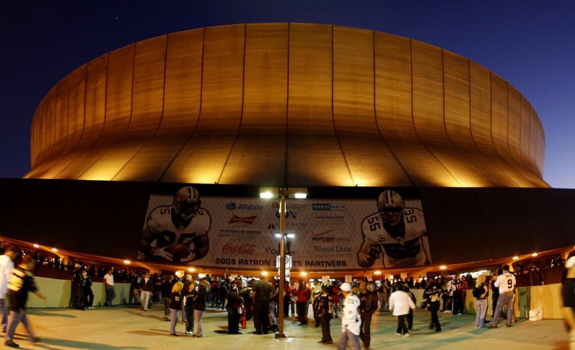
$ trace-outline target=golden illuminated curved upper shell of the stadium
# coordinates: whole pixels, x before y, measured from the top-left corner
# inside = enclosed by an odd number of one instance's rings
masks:
[[[535,110],[420,41],[274,23],[106,53],[40,103],[26,178],[269,186],[548,187]]]

